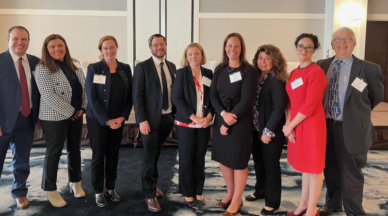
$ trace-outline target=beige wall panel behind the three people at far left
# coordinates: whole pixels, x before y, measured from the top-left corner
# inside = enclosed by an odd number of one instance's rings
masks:
[[[127,18],[97,16],[0,15],[0,50],[6,50],[9,27],[22,25],[30,31],[28,53],[41,56],[43,40],[52,33],[62,35],[70,54],[78,60],[98,59],[98,40],[110,34],[116,37],[117,58],[127,58]]]

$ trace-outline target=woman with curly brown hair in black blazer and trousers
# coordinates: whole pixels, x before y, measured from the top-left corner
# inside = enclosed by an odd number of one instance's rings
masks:
[[[253,102],[252,156],[255,163],[255,192],[247,201],[265,200],[261,215],[272,215],[280,206],[280,156],[286,123],[287,61],[274,45],[259,46],[252,65],[257,71],[257,88]]]

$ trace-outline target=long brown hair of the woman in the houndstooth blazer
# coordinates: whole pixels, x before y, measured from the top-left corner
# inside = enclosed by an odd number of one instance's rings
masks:
[[[39,63],[48,67],[51,73],[56,73],[59,70],[59,67],[55,64],[54,60],[51,58],[49,54],[49,50],[47,49],[47,45],[49,44],[49,42],[55,39],[60,39],[64,42],[65,49],[66,49],[64,61],[66,62],[67,66],[71,71],[76,71],[77,67],[74,65],[73,60],[71,59],[69,48],[67,47],[65,38],[63,38],[59,34],[50,34],[43,41],[42,59],[40,60]]]

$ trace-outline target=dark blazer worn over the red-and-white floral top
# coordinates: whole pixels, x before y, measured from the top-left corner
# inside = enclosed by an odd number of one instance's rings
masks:
[[[201,66],[202,77],[213,78],[211,70]],[[177,70],[177,77],[175,77],[172,93],[172,101],[177,108],[177,115],[175,119],[183,123],[191,123],[189,119],[191,114],[196,113],[197,110],[197,94],[194,83],[193,73],[190,65]],[[203,114],[208,116],[209,112],[214,116],[214,108],[210,103],[210,87],[203,85]]]

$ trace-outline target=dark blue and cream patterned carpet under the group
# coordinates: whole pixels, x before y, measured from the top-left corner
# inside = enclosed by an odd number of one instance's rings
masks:
[[[42,178],[42,161],[45,148],[35,147],[31,154],[31,174],[27,185],[29,187],[28,198],[31,206],[28,209],[17,209],[15,201],[10,196],[10,187],[13,180],[11,169],[12,155],[10,151],[4,165],[0,181],[0,216],[46,216],[46,215],[128,215],[128,216],[220,216],[222,210],[213,207],[217,200],[222,199],[226,193],[226,186],[222,178],[218,163],[210,160],[211,149],[206,154],[206,182],[204,196],[207,201],[205,206],[190,209],[184,205],[184,199],[178,194],[178,148],[163,147],[159,162],[160,181],[159,187],[164,191],[165,197],[159,199],[162,212],[149,212],[144,203],[141,191],[140,167],[142,148],[122,147],[116,190],[123,201],[109,201],[107,207],[100,208],[94,202],[93,190],[90,182],[91,149],[82,147],[82,186],[86,192],[85,198],[76,199],[69,193],[67,185],[67,166],[65,151],[61,157],[58,171],[58,190],[67,201],[64,208],[54,208],[49,204],[44,191],[40,188]],[[287,163],[286,150],[283,150],[281,158],[282,168],[282,202],[278,211],[295,209],[301,193],[301,174],[293,170]],[[363,206],[367,215],[388,215],[388,151],[371,150],[368,154],[368,164],[363,169],[365,173]],[[255,184],[253,161],[249,162],[249,176],[243,197],[252,193]],[[319,205],[324,203],[325,187],[321,192]],[[259,215],[264,205],[263,200],[254,202],[244,201],[241,215]],[[345,213],[336,213],[334,216],[344,216]]]

